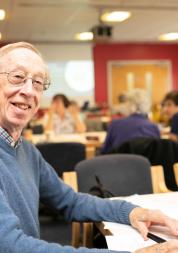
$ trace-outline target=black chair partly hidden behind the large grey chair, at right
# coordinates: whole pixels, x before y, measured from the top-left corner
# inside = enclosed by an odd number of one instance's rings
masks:
[[[169,139],[137,138],[123,143],[110,153],[142,155],[152,165],[162,165],[168,189],[177,191],[173,165],[178,162],[178,143]]]

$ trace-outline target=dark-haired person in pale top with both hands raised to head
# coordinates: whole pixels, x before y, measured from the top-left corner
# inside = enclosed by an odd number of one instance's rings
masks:
[[[52,98],[45,131],[53,131],[55,134],[86,131],[85,124],[79,117],[78,109],[74,105],[70,106],[70,101],[64,94],[56,94]]]

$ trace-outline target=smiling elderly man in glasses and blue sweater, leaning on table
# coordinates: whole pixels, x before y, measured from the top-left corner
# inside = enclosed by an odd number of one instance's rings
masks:
[[[19,42],[0,49],[0,253],[109,252],[74,249],[40,240],[39,197],[62,209],[68,220],[131,224],[144,239],[150,224],[158,223],[178,235],[178,221],[159,211],[75,193],[59,180],[37,149],[21,137],[48,86],[46,65],[33,45]],[[170,240],[136,252],[173,253],[177,250],[178,241]]]

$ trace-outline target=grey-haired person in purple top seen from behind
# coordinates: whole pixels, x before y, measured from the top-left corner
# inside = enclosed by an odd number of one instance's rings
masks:
[[[109,126],[102,153],[107,153],[122,143],[137,137],[160,137],[158,127],[149,121],[149,98],[146,91],[134,89],[127,95],[129,116],[113,120]]]

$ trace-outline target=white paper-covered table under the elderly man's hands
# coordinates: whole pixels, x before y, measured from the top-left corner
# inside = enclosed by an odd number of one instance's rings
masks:
[[[125,199],[134,204],[150,209],[160,209],[167,215],[178,219],[178,192],[133,195],[119,199]],[[110,250],[129,250],[133,252],[138,248],[146,247],[155,243],[150,239],[148,241],[143,241],[140,234],[131,226],[112,222],[97,223],[97,226],[101,233],[105,235]],[[175,239],[175,237],[168,235],[166,229],[161,227],[152,227],[151,231],[164,239]]]

